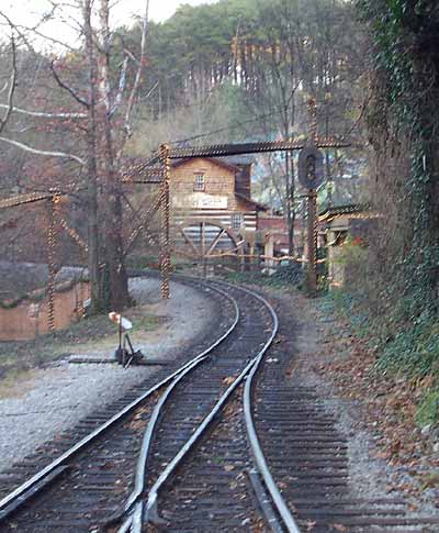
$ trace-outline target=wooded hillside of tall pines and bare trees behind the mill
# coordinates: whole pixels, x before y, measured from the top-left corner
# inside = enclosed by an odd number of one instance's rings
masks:
[[[113,97],[124,58],[135,57],[142,40],[138,22],[113,30],[109,62]],[[148,22],[145,69],[125,152],[145,157],[162,142],[181,145],[303,137],[309,131],[309,98],[318,102],[322,135],[349,135],[358,142],[356,121],[365,87],[362,48],[353,7],[347,2],[222,0],[194,8],[183,5],[164,23]],[[3,45],[3,81],[9,71],[8,49]],[[87,84],[85,73],[79,74],[83,49],[56,54],[57,71],[80,93],[87,91],[81,87]],[[20,46],[15,100],[21,107],[44,111],[71,106],[71,95],[53,79],[53,51],[42,54]],[[134,60],[124,76],[127,87],[134,82]],[[23,116],[13,116],[19,119]],[[54,143],[72,146],[77,143],[75,132],[74,138],[59,140],[66,125],[34,121],[26,123],[25,131],[19,129],[22,133],[15,140],[32,145],[36,133],[37,147]],[[22,171],[35,159],[14,147],[10,149],[16,165],[3,173],[9,177],[3,187],[20,189],[23,174],[38,180],[35,169]],[[346,168],[346,157],[342,153],[327,154],[329,177],[359,174],[357,167]],[[45,179],[57,166],[56,160],[40,159],[37,166],[42,165]],[[262,158],[256,187],[259,199],[283,212],[294,210],[294,201],[291,207],[285,202],[285,198],[294,198],[293,173],[288,157]]]

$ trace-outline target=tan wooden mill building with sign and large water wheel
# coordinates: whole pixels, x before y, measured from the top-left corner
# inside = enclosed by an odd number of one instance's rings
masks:
[[[248,157],[176,160],[170,175],[171,224],[176,249],[215,256],[238,247],[252,251],[260,211],[251,199]]]

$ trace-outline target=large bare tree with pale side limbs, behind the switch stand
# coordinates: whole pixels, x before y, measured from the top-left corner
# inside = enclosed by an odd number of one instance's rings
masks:
[[[25,27],[3,15],[18,33],[20,45],[27,51],[35,36],[48,40],[55,49],[63,48],[55,58],[53,54],[48,57],[38,53],[43,57],[44,75],[50,75],[53,109],[35,110],[27,109],[25,104],[14,106],[11,91],[7,101],[0,103],[0,109],[5,110],[4,119],[12,118],[20,123],[45,122],[45,144],[49,146],[36,146],[12,132],[0,135],[0,142],[33,155],[70,162],[76,166],[76,170],[72,170],[70,165],[70,171],[85,181],[88,266],[94,310],[109,307],[121,310],[130,301],[122,242],[120,168],[124,147],[131,136],[137,92],[146,63],[149,8],[149,1],[145,0],[138,56],[135,56],[133,52],[123,48],[123,43],[117,46],[116,33],[110,27],[110,0],[75,0],[68,4],[69,14],[75,13],[75,18],[70,16],[69,20],[78,29],[81,38],[81,45],[77,47],[48,37],[44,33],[44,23]],[[59,16],[67,4],[53,1],[52,5],[44,21]],[[32,48],[29,53],[35,51]],[[121,55],[122,60],[117,64],[116,57]],[[132,67],[130,79],[128,65]],[[47,84],[47,80],[40,78],[38,84],[43,82]],[[57,110],[56,103],[63,109]],[[21,127],[21,131],[25,132],[26,129]],[[66,131],[69,133],[67,137]],[[53,134],[52,138],[48,133]],[[59,145],[63,149],[59,149]]]

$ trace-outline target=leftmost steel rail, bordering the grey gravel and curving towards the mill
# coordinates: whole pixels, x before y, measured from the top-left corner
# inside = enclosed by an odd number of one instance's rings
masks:
[[[217,289],[215,287],[210,287],[210,289],[215,290],[216,292],[221,293],[222,296],[225,296],[232,303],[234,304],[235,308],[235,319],[234,319],[234,327],[236,327],[236,302],[234,302],[234,299],[229,297],[226,292],[222,291],[221,289]],[[233,327],[233,329],[234,329]],[[24,503],[24,501],[27,500],[27,493],[32,491],[34,487],[36,487],[37,484],[41,484],[47,476],[53,474],[55,470],[57,470],[60,466],[65,465],[68,459],[74,457],[76,454],[79,452],[83,451],[88,445],[90,445],[94,440],[97,440],[99,436],[104,434],[108,430],[113,427],[117,422],[123,420],[127,414],[130,414],[134,409],[136,409],[142,402],[144,402],[148,397],[150,397],[154,392],[162,388],[164,386],[168,385],[170,381],[172,381],[179,374],[183,373],[188,367],[192,365],[192,363],[195,359],[199,359],[212,349],[214,349],[221,342],[223,342],[233,331],[232,327],[227,330],[225,334],[223,334],[219,340],[215,341],[211,346],[209,346],[206,349],[204,349],[201,354],[198,354],[195,357],[193,357],[191,360],[182,365],[180,368],[171,373],[169,376],[164,378],[161,381],[153,386],[150,389],[145,391],[143,395],[140,395],[138,398],[133,400],[131,403],[125,406],[121,411],[119,411],[116,414],[111,417],[106,422],[101,424],[99,427],[93,430],[91,433],[86,435],[83,438],[81,438],[77,444],[75,444],[72,447],[67,449],[64,454],[61,454],[59,457],[57,457],[55,460],[49,463],[46,467],[44,467],[42,470],[37,471],[34,476],[32,476],[30,479],[24,481],[22,485],[16,487],[12,492],[7,495],[4,498],[0,500],[0,522],[4,520],[9,514],[11,514],[13,511],[20,507],[20,504]],[[44,484],[41,484],[42,487],[44,487]],[[34,496],[36,491],[32,491],[32,496]]]

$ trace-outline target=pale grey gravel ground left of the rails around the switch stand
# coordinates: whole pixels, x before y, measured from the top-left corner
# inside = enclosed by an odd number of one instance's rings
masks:
[[[133,334],[135,348],[155,359],[175,357],[215,320],[214,302],[184,285],[172,282],[168,301],[160,299],[158,279],[132,279],[130,289],[137,303],[147,306],[148,314],[161,318],[160,325],[143,334],[140,342]],[[102,344],[75,355],[112,357],[114,344]],[[0,471],[157,370],[155,366],[74,365],[69,359],[23,379],[20,389],[26,392],[20,398],[0,399]]]

